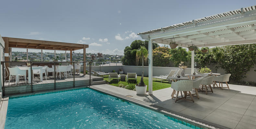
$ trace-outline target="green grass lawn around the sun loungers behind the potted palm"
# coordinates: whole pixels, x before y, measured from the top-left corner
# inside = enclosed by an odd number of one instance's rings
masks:
[[[141,76],[137,76],[137,83],[140,82],[140,79],[141,79]],[[104,76],[104,80],[109,81],[109,77]],[[144,77],[144,83],[146,85],[148,85],[148,77]],[[133,81],[129,81],[129,83],[126,81],[125,82],[121,82],[121,81],[117,82],[116,79],[113,79],[110,81],[109,84],[114,85],[114,86],[119,86],[119,84],[123,84],[124,86],[129,85],[129,86],[134,86],[134,88],[135,88],[136,83],[133,83]],[[169,82],[162,81],[162,83],[161,83],[161,79],[156,80],[156,78],[153,78],[153,91],[168,88],[168,87],[171,87],[171,84],[169,84]],[[147,90],[148,90],[148,87],[147,87]]]

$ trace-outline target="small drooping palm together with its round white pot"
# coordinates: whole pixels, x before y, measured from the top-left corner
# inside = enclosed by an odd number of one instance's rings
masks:
[[[136,64],[138,65],[140,62],[142,63],[142,74],[140,83],[135,85],[137,94],[146,94],[147,85],[145,85],[143,81],[144,76],[144,63],[147,61],[147,49],[145,46],[140,46],[140,48],[136,51]]]

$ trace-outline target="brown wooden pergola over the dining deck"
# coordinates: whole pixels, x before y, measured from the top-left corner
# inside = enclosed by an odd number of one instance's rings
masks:
[[[72,51],[79,50],[79,49],[83,49],[84,61],[86,61],[86,48],[89,47],[89,45],[85,45],[85,44],[53,42],[53,41],[12,38],[12,37],[2,37],[2,38],[5,41],[5,53],[10,54],[12,47],[27,48],[27,50],[28,49],[63,50],[63,51],[70,51],[70,61],[72,61]],[[9,57],[5,57],[5,61],[10,61]],[[85,65],[84,65],[84,71],[86,71]],[[85,73],[86,72],[84,72],[84,74]]]

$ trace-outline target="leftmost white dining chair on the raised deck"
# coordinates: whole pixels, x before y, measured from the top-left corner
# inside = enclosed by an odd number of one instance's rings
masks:
[[[8,85],[10,84],[10,79],[13,77],[13,76],[16,76],[16,84],[17,85],[17,81],[19,79],[19,76],[24,76],[25,78],[25,82],[27,82],[27,78],[26,78],[26,70],[21,70],[19,69],[18,67],[14,67],[14,68],[9,68],[9,83]]]

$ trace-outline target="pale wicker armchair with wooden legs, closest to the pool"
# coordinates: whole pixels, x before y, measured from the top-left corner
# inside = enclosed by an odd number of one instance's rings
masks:
[[[177,82],[171,82],[171,88],[173,89],[171,98],[176,98],[175,103],[177,100],[184,99],[190,100],[194,102],[193,97],[191,99],[187,99],[187,92],[190,96],[192,96],[191,92],[193,90],[193,81],[192,80],[180,80]],[[174,97],[175,91],[177,91],[176,97]],[[182,91],[184,92],[184,97],[182,96]],[[181,98],[179,98],[179,92],[181,94]]]

